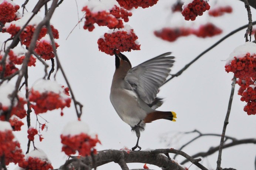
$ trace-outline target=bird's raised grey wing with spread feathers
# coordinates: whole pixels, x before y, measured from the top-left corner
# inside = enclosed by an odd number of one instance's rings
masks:
[[[174,63],[171,52],[166,52],[131,68],[124,80],[147,104],[154,102],[159,87],[165,82]]]

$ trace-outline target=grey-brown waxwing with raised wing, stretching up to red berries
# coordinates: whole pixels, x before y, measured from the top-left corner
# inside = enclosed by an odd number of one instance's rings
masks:
[[[155,110],[162,105],[162,98],[156,97],[159,88],[174,65],[171,52],[158,55],[132,68],[129,59],[119,52],[115,54],[115,72],[110,90],[110,101],[118,116],[135,131],[137,143],[132,150],[139,149],[140,131],[146,123],[158,119],[176,122],[175,112]]]

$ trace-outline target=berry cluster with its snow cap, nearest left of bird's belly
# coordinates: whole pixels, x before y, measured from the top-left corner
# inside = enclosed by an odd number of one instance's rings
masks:
[[[29,94],[31,107],[35,113],[45,113],[64,107],[70,107],[71,99],[65,88],[53,81],[41,80],[34,85]]]

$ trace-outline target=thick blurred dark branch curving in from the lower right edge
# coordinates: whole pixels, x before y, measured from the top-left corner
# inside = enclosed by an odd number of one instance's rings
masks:
[[[236,145],[242,145],[242,144],[248,144],[248,143],[252,143],[252,144],[256,144],[256,139],[252,138],[252,139],[241,139],[241,140],[234,140],[233,142],[230,142],[228,144],[223,145],[223,149],[228,148],[228,147],[232,147],[232,146],[236,146]],[[199,152],[196,153],[194,155],[192,155],[193,158],[196,157],[206,157],[209,156],[215,152],[217,152],[219,150],[219,146],[216,147],[210,147],[210,149],[207,152]],[[181,162],[181,164],[185,164],[189,162],[188,160],[184,160],[183,162]]]

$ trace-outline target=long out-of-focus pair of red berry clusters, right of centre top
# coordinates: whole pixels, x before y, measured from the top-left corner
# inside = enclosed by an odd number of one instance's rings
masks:
[[[196,35],[197,37],[213,37],[222,33],[222,30],[212,23],[200,26],[197,30],[192,28],[162,28],[162,30],[154,31],[156,37],[163,40],[173,42],[179,37]]]

